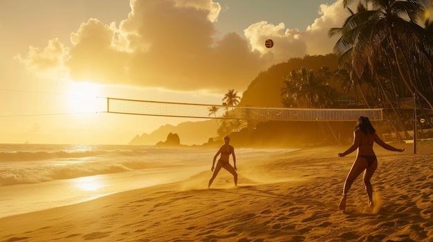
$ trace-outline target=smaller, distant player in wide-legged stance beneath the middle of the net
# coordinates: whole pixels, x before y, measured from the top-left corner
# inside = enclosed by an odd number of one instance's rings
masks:
[[[214,156],[214,162],[212,163],[212,168],[210,169],[214,173],[212,174],[212,177],[209,180],[208,188],[210,188],[212,181],[214,181],[216,175],[218,174],[219,170],[221,170],[221,168],[228,170],[228,172],[230,172],[233,175],[234,185],[237,185],[236,156],[234,155],[233,146],[230,145],[229,143],[230,143],[230,138],[227,136],[224,137],[224,145],[221,146],[221,148],[219,148],[218,152],[216,152],[216,154]],[[215,168],[216,157],[218,157],[219,154],[221,154],[221,157],[219,157],[218,163],[216,163],[216,168]],[[230,163],[228,163],[230,154],[233,157],[234,167],[232,167],[232,165],[230,165]]]

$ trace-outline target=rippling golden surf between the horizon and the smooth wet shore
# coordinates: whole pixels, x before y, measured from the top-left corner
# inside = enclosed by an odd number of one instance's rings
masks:
[[[0,185],[210,165],[215,150],[129,145],[0,145]],[[242,163],[287,150],[239,149]]]

